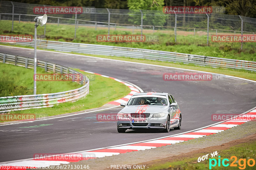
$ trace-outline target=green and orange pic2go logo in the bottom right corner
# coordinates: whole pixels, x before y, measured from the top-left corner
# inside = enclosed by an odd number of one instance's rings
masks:
[[[220,162],[222,163],[222,166],[229,166],[229,163],[228,163],[228,159],[223,159],[222,161],[220,160],[220,156],[218,156],[219,159],[218,159],[218,166],[220,166]],[[236,160],[237,160],[237,157],[236,156],[231,156],[230,159],[235,159],[231,164],[230,166],[237,166],[236,163]],[[214,164],[212,164],[212,161],[214,162]],[[227,162],[225,162],[227,161]],[[243,163],[242,163],[243,162]],[[252,164],[251,164],[252,163]],[[216,166],[217,165],[217,160],[215,158],[213,159],[209,159],[209,169],[212,169],[212,167]],[[246,168],[246,159],[239,159],[238,160],[238,165],[239,165],[239,169],[245,169]],[[248,166],[254,166],[255,165],[255,160],[254,159],[248,159],[247,160],[247,165]]]

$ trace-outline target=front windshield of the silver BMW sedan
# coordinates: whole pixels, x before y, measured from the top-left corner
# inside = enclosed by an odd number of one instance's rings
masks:
[[[165,97],[165,96],[163,96]],[[131,98],[127,105],[167,105],[166,99],[163,97],[134,97]]]

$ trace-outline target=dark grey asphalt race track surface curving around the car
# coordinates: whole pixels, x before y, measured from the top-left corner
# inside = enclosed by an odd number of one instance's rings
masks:
[[[0,53],[34,57],[33,50],[0,47]],[[121,107],[51,120],[0,126],[0,162],[32,158],[35,153],[67,153],[169,136],[216,123],[212,114],[240,114],[256,106],[256,84],[220,78],[212,81],[164,81],[164,73],[182,70],[120,61],[37,51],[37,58],[129,81],[144,91],[171,93],[182,113],[182,129],[167,133],[129,130],[118,133],[116,122],[98,123],[96,114]],[[188,72],[188,71],[185,71]],[[47,124],[42,127],[28,126]]]

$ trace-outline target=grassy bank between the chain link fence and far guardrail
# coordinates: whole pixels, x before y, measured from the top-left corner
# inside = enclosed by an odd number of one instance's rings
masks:
[[[34,35],[34,22],[14,22],[14,31],[11,31],[12,21],[0,21],[0,34],[31,34]],[[76,39],[74,39],[75,28],[74,25],[60,24],[46,24],[46,39],[67,41],[67,42],[80,42],[88,44],[100,44],[110,46],[124,46],[134,48],[145,48],[153,50],[163,50],[178,53],[190,53],[197,55],[205,55],[212,57],[222,57],[239,60],[256,61],[256,48],[255,42],[243,43],[243,50],[240,50],[241,43],[216,43],[211,42],[209,37],[209,46],[206,46],[206,35],[177,35],[177,42],[174,41],[173,31],[157,30],[153,35],[159,37],[157,42],[140,42],[140,43],[111,43],[111,42],[97,42],[96,36],[99,34],[108,34],[107,28],[79,26],[76,30]],[[179,32],[178,32],[179,33]],[[189,32],[188,32],[189,33]],[[37,34],[44,35],[44,27],[37,27]],[[110,34],[132,34],[132,29],[125,29],[117,27],[117,31],[110,30]],[[136,30],[134,34],[140,34],[140,30]],[[152,30],[144,30],[144,34],[152,35]]]

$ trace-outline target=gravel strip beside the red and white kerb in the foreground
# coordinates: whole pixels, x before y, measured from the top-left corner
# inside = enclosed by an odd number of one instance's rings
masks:
[[[170,134],[171,133],[172,131],[170,131]],[[191,151],[196,151],[210,146],[222,145],[236,139],[245,138],[255,133],[256,121],[252,120],[247,123],[230,128],[226,131],[222,131],[220,133],[205,136],[202,138],[195,138],[181,143],[147,149],[144,151],[127,152],[109,157],[82,160],[79,162],[70,163],[69,165],[89,165],[90,170],[111,169],[111,165],[145,165],[143,163],[148,161],[163,159],[172,156],[181,156],[182,154],[186,155],[186,153]],[[246,138],[244,142],[246,142],[247,140],[248,138]],[[147,166],[145,166],[145,168],[147,168]]]

